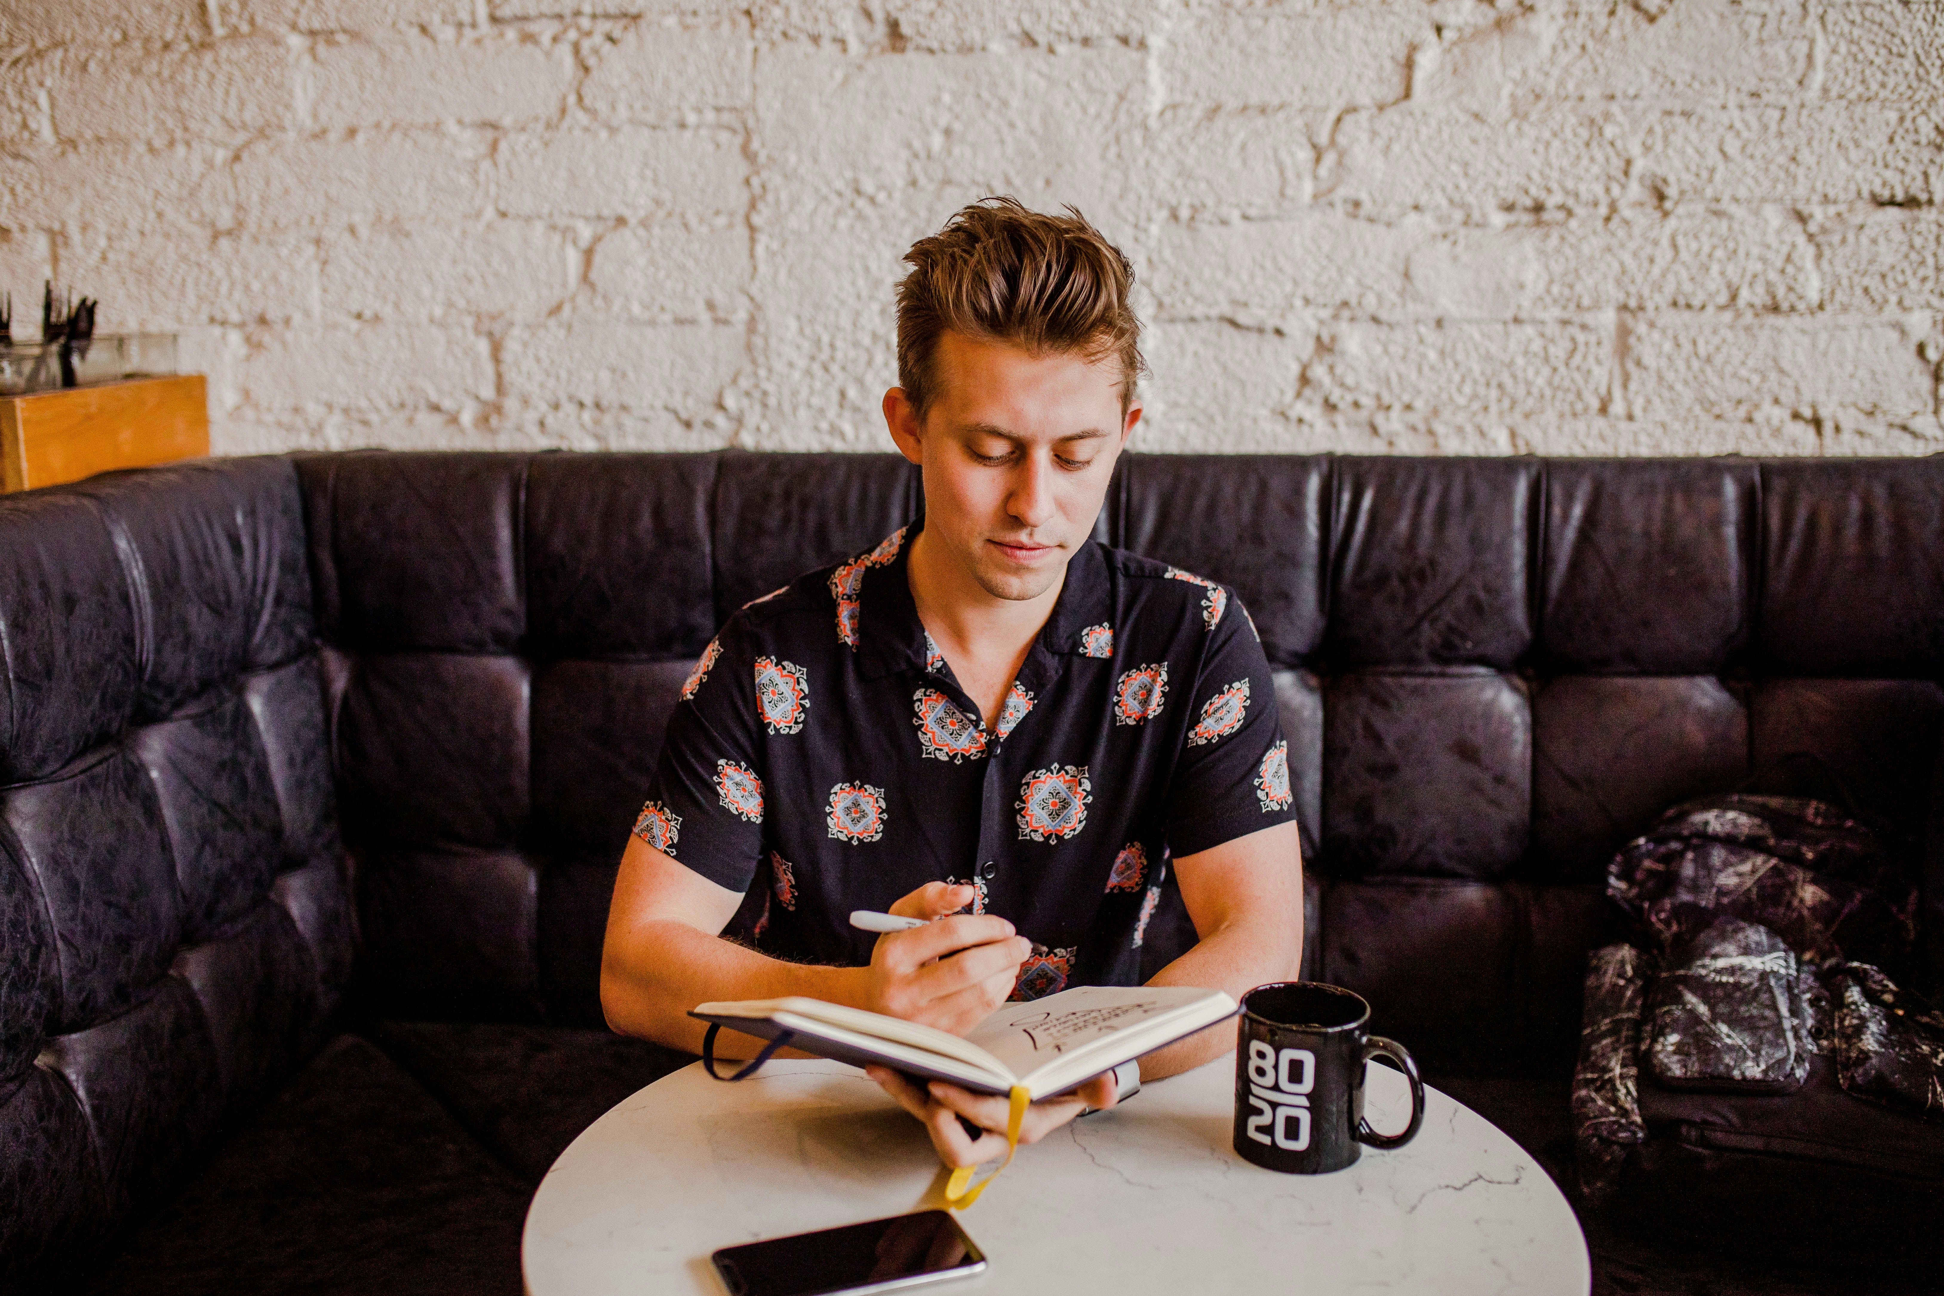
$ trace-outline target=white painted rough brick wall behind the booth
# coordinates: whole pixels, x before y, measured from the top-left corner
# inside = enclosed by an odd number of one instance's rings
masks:
[[[1944,449],[1944,0],[0,0],[0,288],[220,451],[885,449],[988,192],[1151,449]]]

